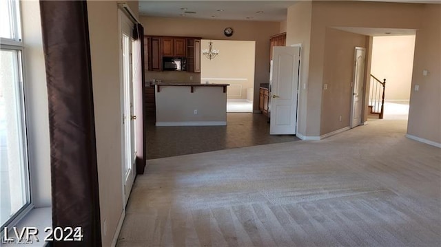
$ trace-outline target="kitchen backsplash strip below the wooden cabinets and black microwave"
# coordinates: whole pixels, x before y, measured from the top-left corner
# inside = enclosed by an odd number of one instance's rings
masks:
[[[166,72],[145,72],[145,81],[150,82],[153,79],[161,80],[163,83],[201,83],[201,73],[190,73],[180,71],[166,71]]]

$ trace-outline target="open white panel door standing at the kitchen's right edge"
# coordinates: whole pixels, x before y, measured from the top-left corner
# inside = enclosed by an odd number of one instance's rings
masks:
[[[271,135],[296,133],[300,47],[276,46],[271,78]]]

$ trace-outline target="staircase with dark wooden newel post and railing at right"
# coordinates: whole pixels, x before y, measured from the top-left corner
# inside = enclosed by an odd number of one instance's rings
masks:
[[[371,74],[371,87],[369,92],[369,111],[370,114],[378,115],[383,118],[384,113],[384,88],[386,87],[386,79],[378,80]]]

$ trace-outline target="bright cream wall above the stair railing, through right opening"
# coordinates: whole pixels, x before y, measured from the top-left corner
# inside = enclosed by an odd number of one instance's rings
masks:
[[[386,78],[385,100],[409,101],[414,50],[415,35],[373,37],[371,74]]]

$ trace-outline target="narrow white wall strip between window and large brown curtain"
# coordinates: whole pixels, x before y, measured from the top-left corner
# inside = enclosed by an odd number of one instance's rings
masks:
[[[39,1],[21,1],[28,147],[35,207],[51,206],[48,88]]]

